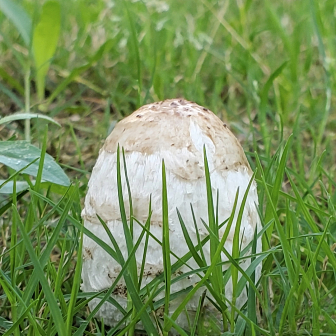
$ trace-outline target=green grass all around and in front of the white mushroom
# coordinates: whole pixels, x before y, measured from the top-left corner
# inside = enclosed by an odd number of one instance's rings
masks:
[[[212,294],[224,328],[235,335],[336,335],[334,1],[80,0],[60,6],[50,1],[43,10],[42,3],[0,1],[0,109],[8,118],[0,120],[0,137],[31,139],[41,149],[41,159],[28,162],[30,176],[25,166],[14,169],[1,161],[0,185],[7,191],[0,194],[0,333],[132,335],[141,320],[153,335],[166,335],[171,327],[181,335],[220,335],[218,321],[205,321],[204,297],[190,332],[175,323],[188,298],[203,286]],[[48,26],[50,8],[57,15]],[[89,173],[115,122],[141,104],[179,96],[210,108],[242,142],[258,182],[263,253],[253,253],[244,272],[240,242],[235,241],[232,256],[223,251],[225,234],[223,241],[218,227],[224,223],[216,216],[220,199],[208,193],[209,236],[203,241],[199,237],[194,246],[184,230],[190,253],[174,263],[164,211],[160,244],[165,272],[141,289],[134,253],[151,236],[151,205],[145,223],[135,218],[128,223],[120,197],[127,259],[113,233],[107,232],[111,246],[92,236],[80,213]],[[38,118],[41,111],[45,119]],[[64,169],[70,186],[45,179],[47,153]],[[53,172],[59,174],[57,181],[66,181],[57,169]],[[121,174],[127,171],[119,166],[119,179]],[[126,191],[119,185],[121,196]],[[127,192],[131,200],[129,187]],[[179,214],[182,228],[183,216]],[[226,227],[232,221],[233,216]],[[133,225],[142,226],[137,241],[132,239]],[[80,291],[83,235],[121,264],[110,289]],[[208,240],[211,264],[202,250]],[[224,274],[221,251],[231,265]],[[190,270],[200,278],[198,285],[155,300],[187,276],[170,278],[191,258],[199,267]],[[254,269],[261,261],[256,286]],[[222,295],[231,275],[237,295],[248,288],[241,310]],[[123,320],[112,328],[94,319],[87,304],[99,297],[117,305],[111,293],[121,277],[132,290],[127,310],[120,307]],[[169,317],[169,300],[181,294],[186,299]],[[160,305],[165,307],[162,331],[160,320],[150,318]]]

